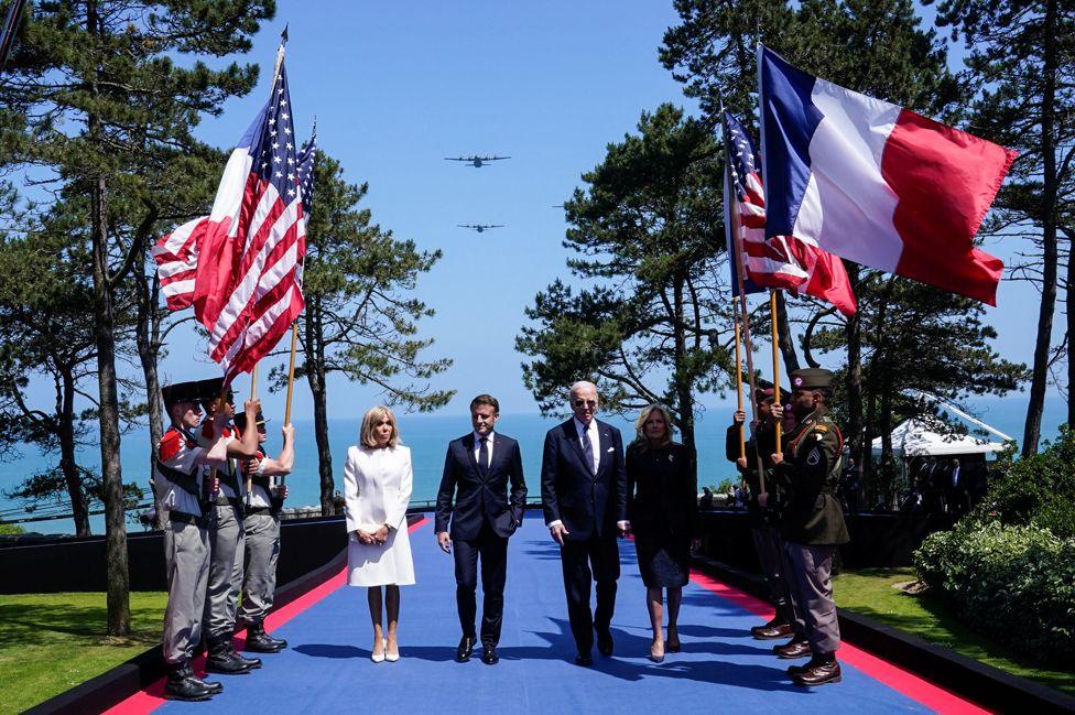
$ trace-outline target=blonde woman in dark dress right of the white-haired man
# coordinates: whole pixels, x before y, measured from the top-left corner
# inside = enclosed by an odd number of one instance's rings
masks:
[[[636,426],[638,436],[627,449],[627,508],[653,627],[650,660],[660,663],[665,650],[680,650],[680,600],[689,577],[691,551],[701,543],[697,465],[691,449],[672,442],[667,408],[644,408]],[[666,644],[661,629],[665,588]]]

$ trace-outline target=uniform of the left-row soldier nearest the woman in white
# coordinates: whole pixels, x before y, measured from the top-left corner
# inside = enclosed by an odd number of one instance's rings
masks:
[[[258,414],[258,424],[264,418]],[[246,427],[246,416],[236,415],[236,425]],[[265,453],[258,448],[258,462],[264,465]],[[242,581],[242,604],[239,619],[247,624],[246,650],[258,653],[275,653],[287,647],[287,641],[270,637],[264,629],[264,619],[272,609],[276,591],[276,561],[280,557],[280,508],[281,487],[273,485],[273,477],[254,475],[250,478],[250,492],[247,495],[246,518],[242,527],[246,532],[246,565]]]

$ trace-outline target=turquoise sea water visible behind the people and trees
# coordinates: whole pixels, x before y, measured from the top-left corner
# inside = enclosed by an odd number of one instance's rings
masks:
[[[1025,396],[998,400],[982,399],[971,402],[976,415],[997,430],[1019,440],[1022,437],[1022,423],[1025,415]],[[1058,397],[1046,400],[1044,436],[1055,436],[1066,415],[1066,405]],[[735,468],[724,455],[725,430],[730,420],[731,405],[710,407],[698,416],[696,438],[698,441],[698,485],[713,486],[727,477],[735,476]],[[272,415],[270,415],[271,418]],[[620,429],[625,442],[633,438],[633,421],[612,415],[600,415]],[[450,440],[466,434],[470,423],[466,414],[399,414],[400,433],[404,444],[411,447],[414,463],[413,501],[431,501],[436,498],[444,468],[444,454]],[[333,453],[333,473],[336,488],[343,490],[344,462],[348,446],[358,441],[359,420],[333,419],[329,421],[329,442]],[[541,451],[545,432],[561,420],[546,419],[539,414],[503,414],[497,430],[519,440],[523,455],[523,472],[530,497],[540,497]],[[279,421],[269,424],[267,451],[274,455],[280,449]],[[313,506],[319,503],[317,476],[317,453],[314,444],[313,421],[295,420],[296,456],[295,466],[287,477],[291,496],[287,506]],[[123,436],[122,464],[124,481],[135,481],[146,490],[149,498],[149,430],[135,430]],[[83,449],[82,464],[95,468],[100,464],[100,453],[96,447]],[[0,519],[15,518],[22,512],[21,505],[9,499],[7,492],[34,472],[55,462],[43,458],[34,447],[26,447],[13,459],[0,463]],[[59,511],[57,507],[42,506],[39,513]],[[91,518],[94,533],[104,531],[104,518]],[[28,531],[41,533],[69,533],[74,531],[69,519],[39,521],[25,524]],[[131,530],[141,529],[137,523],[128,526]]]

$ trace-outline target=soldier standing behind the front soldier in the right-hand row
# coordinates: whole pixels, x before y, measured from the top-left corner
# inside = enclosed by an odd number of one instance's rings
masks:
[[[791,607],[788,598],[788,584],[783,577],[782,552],[783,541],[778,530],[778,510],[781,506],[780,487],[772,478],[772,457],[777,449],[777,419],[771,408],[775,400],[772,387],[759,388],[754,391],[760,421],[751,425],[750,438],[747,441],[746,456],[740,457],[740,430],[747,420],[747,413],[737,410],[732,415],[731,426],[728,427],[725,452],[728,462],[736,463],[750,489],[748,510],[750,514],[750,534],[758,554],[758,563],[765,576],[769,588],[769,600],[777,608],[775,615],[769,622],[754,626],[750,633],[759,640],[784,638],[792,633]],[[759,503],[761,480],[758,478],[758,462],[762,463],[765,473],[765,506]]]

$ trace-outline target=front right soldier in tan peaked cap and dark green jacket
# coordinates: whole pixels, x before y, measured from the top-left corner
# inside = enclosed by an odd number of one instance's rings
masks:
[[[791,381],[799,426],[789,435],[784,452],[772,458],[774,475],[788,489],[781,518],[785,577],[796,632],[805,635],[811,659],[806,665],[792,665],[788,673],[799,685],[824,685],[840,680],[836,661],[839,622],[830,576],[836,546],[849,541],[836,498],[844,438],[828,416],[833,373],[817,368],[795,370]],[[779,416],[780,408],[773,413]]]

